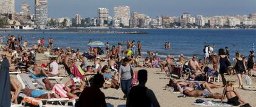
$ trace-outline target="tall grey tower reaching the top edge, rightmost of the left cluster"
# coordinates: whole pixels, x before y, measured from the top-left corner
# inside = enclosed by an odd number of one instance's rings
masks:
[[[35,25],[45,29],[48,18],[47,0],[35,0]]]

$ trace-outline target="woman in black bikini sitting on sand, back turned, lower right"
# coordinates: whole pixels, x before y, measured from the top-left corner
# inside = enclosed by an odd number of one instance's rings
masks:
[[[223,99],[226,95],[226,97],[228,98],[229,105],[238,106],[241,103],[245,103],[244,99],[242,99],[240,97],[237,90],[234,89],[234,87],[232,87],[232,86],[233,86],[233,83],[231,81],[226,82],[226,87],[224,87],[224,89],[223,89],[223,95],[221,98],[221,102],[223,101]]]

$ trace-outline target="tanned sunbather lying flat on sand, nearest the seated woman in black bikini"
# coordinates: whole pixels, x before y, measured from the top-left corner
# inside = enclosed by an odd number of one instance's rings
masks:
[[[187,95],[188,97],[203,97],[203,98],[215,98],[215,99],[222,98],[221,93],[211,93],[206,90],[184,90],[183,94]]]

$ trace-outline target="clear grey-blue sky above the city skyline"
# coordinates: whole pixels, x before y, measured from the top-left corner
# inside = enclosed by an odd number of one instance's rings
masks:
[[[34,1],[25,0],[34,12]],[[15,0],[15,10],[20,12],[22,0]],[[256,0],[48,0],[48,17],[82,18],[96,17],[97,9],[109,9],[113,16],[114,6],[130,6],[130,11],[155,18],[157,15],[181,16],[184,12],[194,15],[249,15],[256,13]]]

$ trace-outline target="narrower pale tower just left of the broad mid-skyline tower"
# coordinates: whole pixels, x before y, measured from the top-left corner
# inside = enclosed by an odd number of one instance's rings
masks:
[[[98,9],[98,25],[104,26],[108,24],[108,9],[99,8]]]

